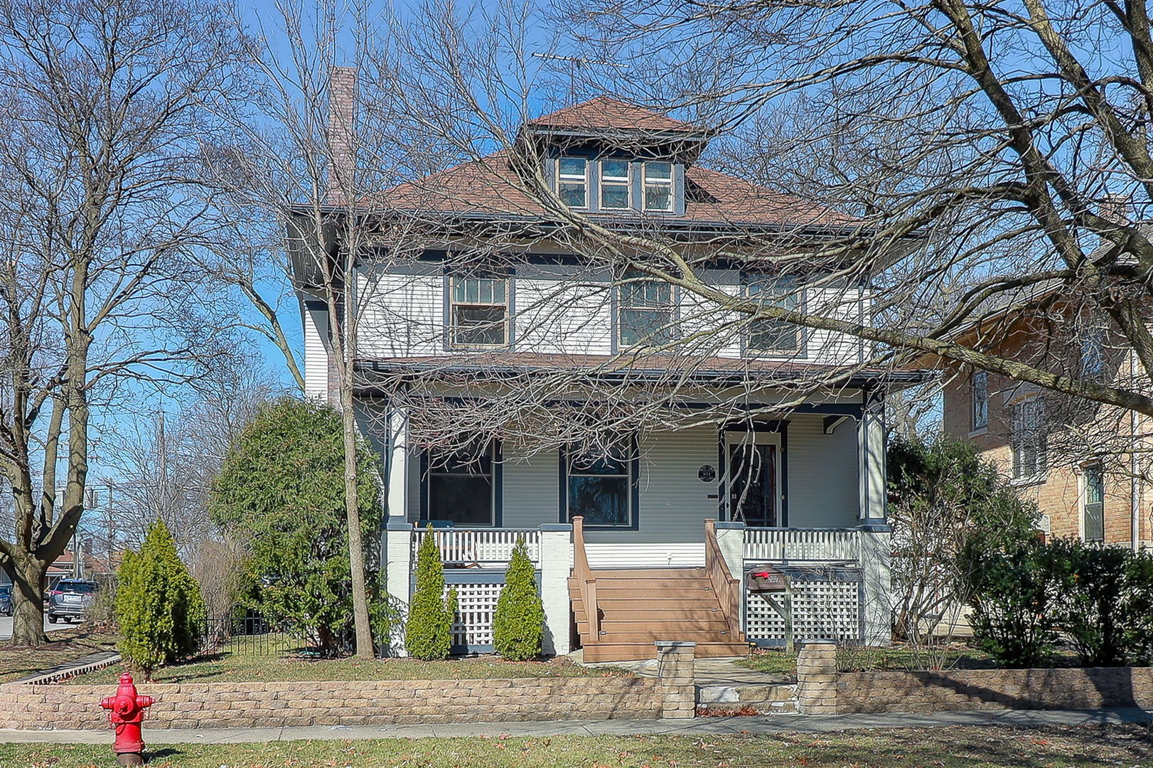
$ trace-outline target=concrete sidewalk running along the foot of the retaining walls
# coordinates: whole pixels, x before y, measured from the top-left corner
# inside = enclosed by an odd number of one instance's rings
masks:
[[[244,741],[296,741],[302,739],[393,739],[451,738],[465,736],[695,736],[734,733],[827,733],[876,728],[943,728],[948,725],[1099,725],[1143,723],[1153,713],[1137,708],[1107,710],[943,711],[930,715],[895,713],[884,715],[777,715],[762,717],[698,717],[694,720],[605,720],[523,723],[469,723],[443,725],[316,725],[311,728],[221,728],[214,730],[148,729],[148,744],[210,744]],[[15,731],[0,730],[0,743],[104,744],[110,731]]]

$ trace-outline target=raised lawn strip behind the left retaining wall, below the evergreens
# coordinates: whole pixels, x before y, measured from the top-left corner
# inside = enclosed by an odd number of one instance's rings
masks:
[[[108,667],[70,682],[80,685],[113,685],[122,671],[120,667]],[[242,641],[234,640],[217,653],[198,656],[183,664],[158,669],[153,675],[153,682],[451,680],[610,675],[628,675],[628,672],[609,668],[580,667],[565,658],[540,662],[510,662],[493,656],[434,662],[414,658],[318,660],[294,652],[251,648]]]

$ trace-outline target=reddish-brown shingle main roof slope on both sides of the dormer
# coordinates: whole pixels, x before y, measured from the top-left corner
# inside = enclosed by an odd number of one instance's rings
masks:
[[[513,216],[537,218],[544,209],[514,183],[507,152],[400,185],[384,194],[387,208],[435,213]],[[743,179],[698,166],[685,171],[685,216],[647,214],[675,224],[775,225],[845,227],[858,219],[799,197],[775,193]],[[604,213],[604,219],[625,223],[627,213]]]

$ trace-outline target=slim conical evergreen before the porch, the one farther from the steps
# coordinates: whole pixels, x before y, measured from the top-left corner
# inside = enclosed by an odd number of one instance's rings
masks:
[[[405,649],[414,658],[447,658],[452,649],[452,620],[457,616],[457,590],[444,593],[444,563],[432,526],[416,554],[416,589],[408,608]]]

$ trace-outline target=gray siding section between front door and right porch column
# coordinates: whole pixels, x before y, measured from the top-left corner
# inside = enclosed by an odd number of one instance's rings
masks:
[[[789,525],[836,528],[857,525],[860,465],[852,420],[826,435],[820,416],[789,422]]]

